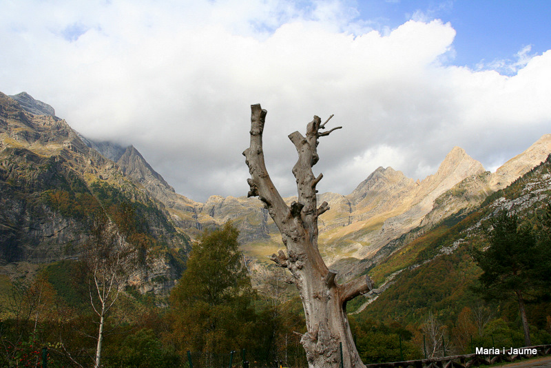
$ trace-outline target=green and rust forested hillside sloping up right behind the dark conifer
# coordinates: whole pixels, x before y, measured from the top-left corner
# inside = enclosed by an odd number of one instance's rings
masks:
[[[429,336],[428,325],[437,325],[439,337],[433,343],[439,346],[435,349],[441,351],[444,336],[448,351],[458,354],[470,352],[470,338],[475,346],[492,346],[492,338],[495,346],[521,345],[517,303],[484,300],[484,295],[477,293],[482,271],[471,253],[473,248],[488,246],[492,219],[502,210],[519,216],[523,226],[538,238],[545,238],[551,214],[550,173],[551,157],[506,189],[488,196],[480,207],[468,214],[450,216],[373,267],[369,274],[379,285],[391,274],[399,273],[375,300],[370,296],[372,303],[362,305],[367,299],[355,302],[354,307],[362,308],[354,314],[357,323],[371,324],[374,334],[388,326],[401,326],[409,331],[406,340],[417,346],[422,344],[423,335],[435,338],[434,334]],[[548,254],[551,244],[545,243],[544,247],[544,254]],[[527,311],[532,344],[550,343],[551,303],[547,297],[530,300]]]

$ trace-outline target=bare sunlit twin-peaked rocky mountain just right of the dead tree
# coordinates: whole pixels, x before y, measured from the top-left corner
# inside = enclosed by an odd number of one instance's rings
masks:
[[[328,201],[331,209],[321,219],[322,230],[329,232],[320,234],[320,242],[329,251],[326,255],[333,257],[333,262],[348,257],[373,257],[384,245],[419,226],[433,209],[435,198],[464,178],[481,172],[481,163],[459,147],[450,151],[436,174],[423,181],[415,182],[391,167],[379,167],[351,194],[340,198],[337,207]],[[342,201],[348,201],[348,209]],[[335,219],[345,216],[348,223],[341,220],[341,227],[332,225]]]

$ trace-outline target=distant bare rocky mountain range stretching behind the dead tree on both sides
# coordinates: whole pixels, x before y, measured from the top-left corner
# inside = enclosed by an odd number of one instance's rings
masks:
[[[392,167],[379,167],[351,194],[319,195],[318,201],[327,201],[331,207],[320,216],[320,251],[333,268],[349,269],[342,276],[360,274],[439,221],[479,205],[488,194],[545,160],[546,152],[551,152],[550,136],[543,136],[491,174],[463,149],[454,147],[437,172],[422,181]],[[240,229],[239,240],[247,256],[268,263],[267,256],[282,247],[277,227],[257,198],[211,196],[206,203],[191,201],[176,194],[132,146],[117,163],[165,203],[175,223],[190,236],[231,220]]]

